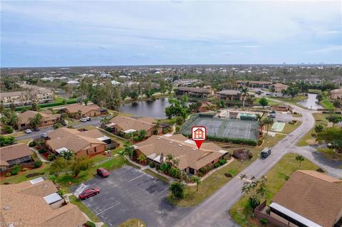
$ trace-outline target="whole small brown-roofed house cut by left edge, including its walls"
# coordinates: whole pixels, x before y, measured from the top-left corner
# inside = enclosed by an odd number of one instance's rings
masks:
[[[33,152],[26,144],[13,144],[0,148],[0,171],[1,176],[11,171],[14,165],[19,164],[21,167],[31,167]]]

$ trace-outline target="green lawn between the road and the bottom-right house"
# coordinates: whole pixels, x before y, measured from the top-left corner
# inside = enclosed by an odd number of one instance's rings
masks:
[[[285,184],[285,178],[287,176],[291,176],[294,171],[299,169],[316,170],[318,167],[308,159],[305,159],[304,162],[301,163],[301,167],[299,167],[299,162],[296,161],[296,154],[291,153],[285,154],[284,157],[267,172],[267,204],[271,203],[271,200],[276,192],[279,191],[279,189],[281,189],[281,187]],[[247,195],[242,196],[242,198],[237,201],[234,206],[232,206],[232,208],[229,210],[229,213],[234,221],[239,224],[239,226],[259,226],[256,224],[259,223],[259,221],[252,218],[253,211],[248,205]]]

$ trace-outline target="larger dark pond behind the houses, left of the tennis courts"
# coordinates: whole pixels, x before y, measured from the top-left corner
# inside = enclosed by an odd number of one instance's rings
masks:
[[[125,103],[120,107],[120,112],[127,112],[140,117],[153,117],[155,119],[165,119],[165,108],[170,106],[167,97],[157,100],[137,101]]]

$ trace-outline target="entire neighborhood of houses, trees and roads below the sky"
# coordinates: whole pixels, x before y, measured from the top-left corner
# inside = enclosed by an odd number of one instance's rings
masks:
[[[341,225],[338,83],[280,79],[266,66],[210,67],[210,73],[203,67],[192,78],[184,74],[192,67],[177,73],[145,67],[1,70],[4,221],[53,226],[72,216],[63,226],[120,225],[132,218],[147,226],[182,226],[204,199],[220,206],[238,198],[226,211],[242,226]],[[338,75],[341,67],[334,67]],[[291,70],[302,75],[314,67]],[[244,80],[251,75],[254,80]],[[53,83],[44,79],[52,77]],[[194,126],[206,128],[200,148],[192,140]],[[143,196],[151,207],[144,210],[133,198],[125,205],[125,193]],[[40,210],[23,206],[31,204],[27,196],[41,203]],[[175,206],[180,223],[149,213],[163,199]],[[28,220],[34,212],[48,213]]]

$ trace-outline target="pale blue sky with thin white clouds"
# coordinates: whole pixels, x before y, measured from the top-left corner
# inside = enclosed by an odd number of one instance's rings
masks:
[[[1,1],[1,67],[342,63],[342,1]]]

